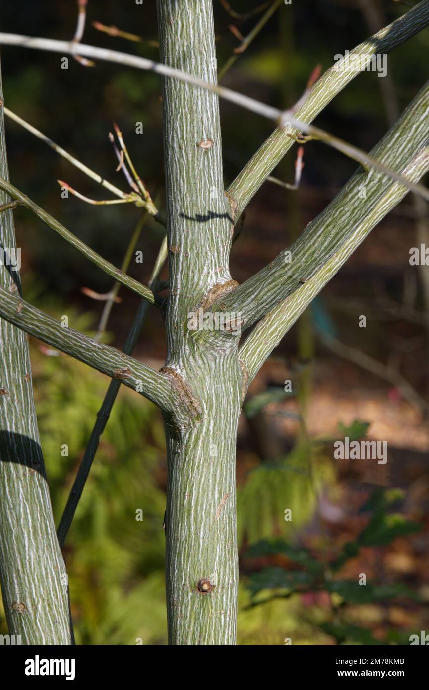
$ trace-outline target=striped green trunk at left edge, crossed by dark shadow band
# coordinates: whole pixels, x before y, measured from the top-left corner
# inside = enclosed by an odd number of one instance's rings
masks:
[[[1,71],[0,98],[0,175],[8,178]],[[0,192],[0,205],[9,201]],[[0,230],[1,249],[15,248],[12,210],[0,213]],[[21,293],[18,271],[4,262],[0,284]],[[0,581],[9,632],[21,635],[21,644],[70,644],[66,567],[43,465],[28,337],[3,319],[0,352]]]

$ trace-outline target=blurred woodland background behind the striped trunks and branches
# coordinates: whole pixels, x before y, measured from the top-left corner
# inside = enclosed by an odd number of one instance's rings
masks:
[[[239,56],[223,84],[274,106],[292,105],[317,63],[327,69],[334,55],[351,50],[407,10],[390,0],[371,5],[375,17],[365,14],[357,0],[295,0],[292,6],[281,6]],[[230,17],[219,1],[214,6],[220,67],[237,46],[228,26],[233,24],[246,34],[258,17],[241,21]],[[233,3],[242,12],[251,6],[257,6],[256,0]],[[3,31],[57,39],[72,37],[76,17],[73,0],[21,0],[18,9],[13,3],[2,3],[0,8]],[[90,0],[83,42],[158,59],[158,50],[150,43],[106,36],[92,28],[92,21],[157,41],[154,2],[146,0],[143,6],[136,6],[133,0]],[[429,31],[425,30],[388,58],[399,112],[428,78],[428,43]],[[117,121],[137,170],[159,209],[165,210],[159,77],[101,61],[94,68],[85,68],[72,58],[69,69],[61,70],[59,54],[10,46],[2,46],[1,59],[6,106],[127,190],[125,179],[114,170],[116,160],[108,141],[112,120]],[[370,150],[388,129],[381,81],[372,73],[354,79],[317,118],[317,124]],[[143,123],[141,135],[135,132],[137,121]],[[223,102],[221,122],[227,187],[270,135],[272,126]],[[6,126],[12,183],[119,265],[139,210],[128,205],[90,206],[72,196],[61,199],[57,179],[65,179],[89,197],[110,195],[14,122],[7,121]],[[295,151],[278,166],[277,177],[292,181]],[[298,192],[266,183],[246,209],[243,231],[231,257],[232,276],[239,282],[288,246],[356,168],[353,161],[317,142],[306,146],[304,161]],[[54,315],[67,314],[70,325],[94,333],[102,304],[84,297],[81,287],[107,292],[110,278],[26,210],[17,209],[14,217],[27,299]],[[403,492],[401,514],[427,527],[429,435],[423,403],[428,400],[429,304],[424,300],[423,285],[428,269],[408,262],[410,247],[418,246],[416,233],[415,206],[409,195],[292,328],[253,384],[249,394],[253,408],[246,408],[242,415],[237,453],[241,553],[249,542],[277,535],[306,546],[315,560],[323,560],[323,553],[338,551],[365,524],[358,511],[375,489],[399,487]],[[161,238],[160,226],[148,221],[137,247],[143,250],[144,262],[132,262],[129,270],[141,282],[148,280]],[[121,289],[120,295],[122,302],[114,306],[107,336],[119,348],[138,304],[138,297],[127,290]],[[365,329],[358,326],[359,315],[367,317]],[[150,317],[136,356],[152,366],[162,366],[166,352],[163,324],[154,310]],[[346,346],[344,356],[323,347],[317,331],[335,333]],[[357,366],[350,346],[358,352],[357,359],[359,352],[375,359],[380,375]],[[32,361],[58,522],[108,382],[68,357],[48,357],[34,341]],[[422,403],[404,399],[399,374],[410,382]],[[286,379],[299,391],[298,398],[283,399]],[[261,393],[266,397],[258,398]],[[166,643],[163,431],[154,408],[135,398],[121,391],[66,545],[78,643],[135,644],[136,639],[143,644]],[[368,422],[368,439],[388,441],[387,466],[371,461],[333,462],[332,439],[341,437],[338,424],[350,428],[355,420]],[[323,438],[324,442],[309,444],[308,438]],[[61,455],[63,444],[69,446],[66,457]],[[286,470],[279,466],[282,462]],[[290,526],[283,520],[283,511],[292,504],[296,517]],[[134,519],[137,509],[143,510],[139,522]],[[284,638],[292,636],[293,644],[356,644],[363,640],[373,644],[353,633],[353,627],[359,627],[372,635],[370,640],[386,640],[390,635],[392,641],[408,644],[403,640],[409,634],[429,625],[427,546],[428,533],[423,529],[412,537],[399,536],[386,546],[363,549],[348,566],[349,578],[366,572],[368,578],[383,584],[405,582],[419,601],[403,598],[359,606],[353,602],[343,605],[323,591],[310,591],[244,610],[249,598],[246,576],[251,580],[265,566],[297,566],[284,556],[275,562],[268,557],[243,557],[239,642],[283,644]],[[336,625],[337,633],[327,624]]]

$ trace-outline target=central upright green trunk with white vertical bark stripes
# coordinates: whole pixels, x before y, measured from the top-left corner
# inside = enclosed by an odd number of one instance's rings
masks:
[[[216,83],[211,0],[158,0],[161,61]],[[170,644],[235,644],[235,440],[239,338],[192,330],[191,313],[237,284],[229,272],[231,210],[223,191],[217,96],[163,84],[170,290],[163,371],[194,406],[188,426],[166,418],[166,591]]]

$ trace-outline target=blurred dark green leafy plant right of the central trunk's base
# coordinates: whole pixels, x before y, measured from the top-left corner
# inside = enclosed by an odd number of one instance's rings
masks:
[[[314,596],[316,593],[326,593],[326,602],[330,603],[330,607],[326,609],[326,618],[332,620],[324,620],[319,624],[322,631],[335,638],[337,644],[382,644],[372,636],[370,630],[350,624],[347,620],[348,604],[382,605],[383,602],[397,598],[419,601],[419,596],[401,582],[373,584],[366,581],[363,573],[355,580],[337,579],[336,574],[348,560],[359,554],[361,547],[386,546],[401,535],[421,530],[421,525],[407,520],[403,515],[388,512],[392,504],[401,498],[403,499],[403,494],[400,491],[377,489],[366,506],[363,506],[363,511],[373,511],[368,524],[353,542],[346,542],[333,559],[326,553],[294,546],[283,539],[262,540],[253,544],[246,553],[247,558],[281,555],[292,564],[292,569],[290,565],[270,566],[250,573],[246,581],[250,592],[248,607],[258,607],[261,604],[266,606],[272,600],[288,599],[292,595],[305,598],[306,594]],[[296,565],[299,569],[293,569]],[[396,637],[389,636],[391,632],[387,631],[387,643],[409,643],[405,632]]]

